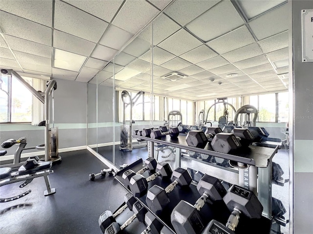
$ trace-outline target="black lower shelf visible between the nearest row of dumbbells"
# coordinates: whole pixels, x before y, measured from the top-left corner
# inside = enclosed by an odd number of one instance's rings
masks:
[[[122,175],[125,171],[131,169],[133,171],[139,171],[144,167],[144,162],[140,158],[128,167],[120,170],[116,173],[115,179],[120,182],[124,187],[122,180]],[[148,177],[152,175],[148,171],[144,172],[142,174],[145,177]],[[171,181],[163,181],[160,178],[156,178],[155,180],[148,183],[148,189],[150,189],[153,185],[158,185],[162,188],[166,188]],[[125,187],[126,188],[126,187]],[[127,189],[127,188],[126,188]],[[130,191],[131,192],[131,191]],[[171,213],[174,207],[179,203],[180,200],[185,200],[191,204],[194,204],[197,199],[201,195],[198,193],[197,187],[195,183],[192,183],[188,188],[182,189],[182,188],[175,188],[171,193],[168,194],[168,197],[170,198],[169,205],[163,209],[162,213],[160,215],[156,215],[157,219],[168,228],[170,233],[176,234],[174,231],[174,228],[171,224]],[[138,201],[140,201],[143,206],[145,206],[150,212],[151,210],[147,207],[146,203],[146,195],[137,198]],[[153,213],[153,212],[152,212]],[[213,218],[222,222],[226,223],[228,216],[230,215],[229,210],[227,209],[226,205],[223,201],[217,201],[213,203],[212,205],[205,204],[204,207],[199,212],[201,215],[201,218],[203,219],[203,224],[207,225],[210,220]],[[241,220],[239,222],[239,225],[236,229],[236,233],[240,234],[251,234],[251,230],[253,230],[254,234],[269,234],[270,232],[270,219],[263,217],[260,219],[248,219],[246,217],[241,217]],[[258,227],[256,229],[256,227]],[[135,232],[134,232],[135,233]],[[136,233],[137,234],[137,233]]]

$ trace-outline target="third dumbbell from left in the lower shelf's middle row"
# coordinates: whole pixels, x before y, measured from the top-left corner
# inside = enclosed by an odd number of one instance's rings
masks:
[[[178,167],[173,171],[171,179],[173,182],[165,189],[158,185],[154,185],[147,192],[147,206],[156,215],[159,215],[163,208],[165,208],[170,202],[167,195],[168,193],[173,191],[177,185],[180,187],[187,187],[192,181],[189,172],[181,167]]]

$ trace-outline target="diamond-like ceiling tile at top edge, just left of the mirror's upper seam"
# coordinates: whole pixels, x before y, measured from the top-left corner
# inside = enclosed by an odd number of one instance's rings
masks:
[[[159,12],[147,1],[126,1],[113,24],[136,34]]]

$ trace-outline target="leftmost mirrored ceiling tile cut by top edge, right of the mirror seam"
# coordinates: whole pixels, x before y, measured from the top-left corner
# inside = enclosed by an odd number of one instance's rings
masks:
[[[165,13],[184,26],[219,1],[220,0],[176,0],[165,10]]]

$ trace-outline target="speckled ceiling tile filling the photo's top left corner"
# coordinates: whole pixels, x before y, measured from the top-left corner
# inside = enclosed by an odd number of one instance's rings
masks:
[[[52,26],[52,0],[1,0],[1,10],[24,19]]]

